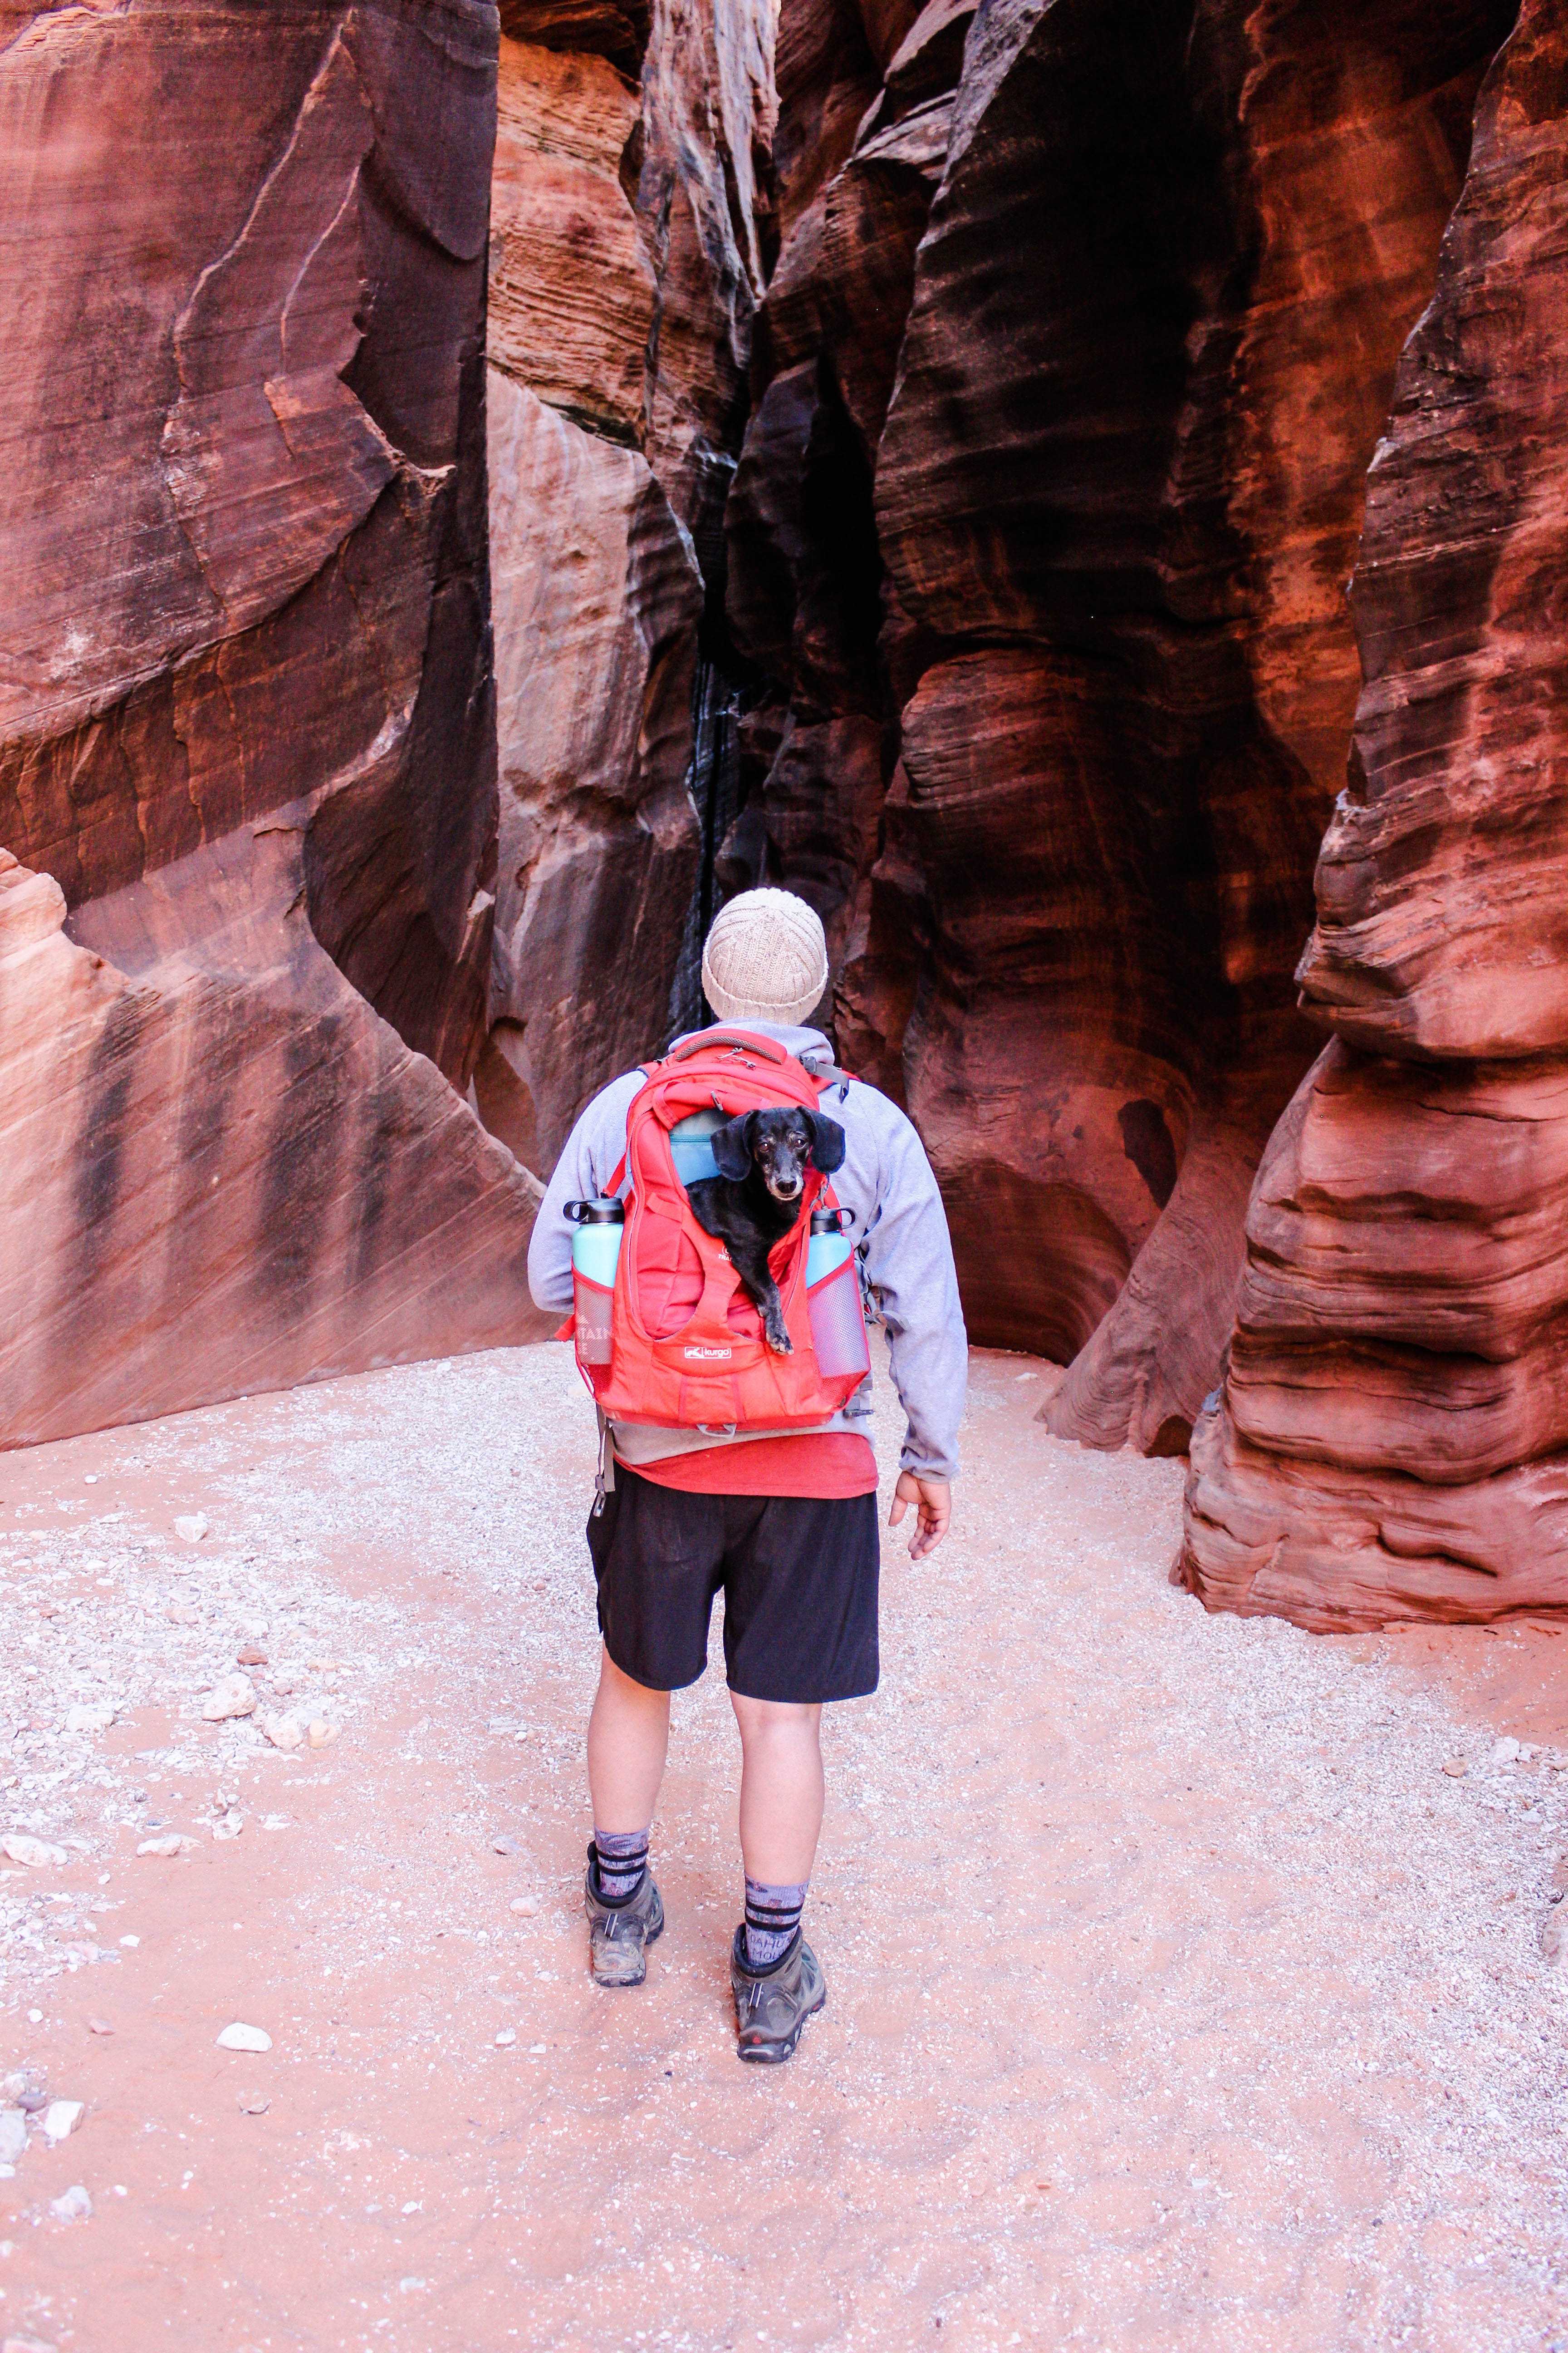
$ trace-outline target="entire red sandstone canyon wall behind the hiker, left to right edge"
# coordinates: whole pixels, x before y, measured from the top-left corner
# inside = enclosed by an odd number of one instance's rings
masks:
[[[780,880],[1204,1600],[1561,1607],[1556,14],[0,0],[0,1442],[534,1337]]]

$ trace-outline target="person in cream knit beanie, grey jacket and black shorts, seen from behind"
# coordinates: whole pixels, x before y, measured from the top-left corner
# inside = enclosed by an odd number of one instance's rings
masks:
[[[752,1085],[766,1087],[769,1064],[762,1056],[773,1056],[773,1068],[790,1073],[788,1082],[780,1080],[780,1099],[820,1104],[823,1118],[811,1132],[825,1136],[827,1146],[816,1167],[832,1165],[835,1202],[820,1224],[837,1219],[835,1231],[858,1245],[882,1304],[893,1381],[907,1417],[889,1525],[896,1527],[914,1506],[910,1558],[922,1560],[947,1532],[969,1374],[952,1245],[931,1165],[910,1120],[875,1087],[832,1071],[827,1040],[820,1031],[799,1026],[825,986],[827,948],[813,908],[780,889],[745,892],[722,908],[703,953],[703,991],[719,1024],[693,1033],[693,1040],[675,1040],[668,1061],[651,1071],[670,1071],[682,1054],[726,1054],[726,1068],[733,1064],[750,1071]],[[691,1061],[689,1068],[708,1064]],[[830,1071],[832,1080],[823,1087],[823,1073]],[[628,1071],[592,1099],[567,1139],[529,1247],[529,1285],[541,1308],[559,1313],[574,1304],[574,1228],[567,1205],[574,1205],[576,1217],[585,1217],[590,1207],[595,1217],[618,1217],[609,1195],[628,1200],[628,1153],[637,1151],[628,1134],[639,1132],[637,1118],[628,1129],[628,1113],[639,1099],[646,1101],[651,1082],[649,1073]],[[705,1087],[708,1080],[698,1085]],[[703,1099],[719,1104],[710,1120],[729,1108],[719,1089]],[[738,1136],[752,1132],[743,1120],[733,1127]],[[839,1148],[842,1162],[835,1162]],[[663,1160],[637,1165],[651,1172],[649,1195],[663,1181],[670,1214],[668,1202],[682,1195],[672,1179],[658,1176],[658,1169],[672,1165],[672,1146],[661,1144],[661,1151]],[[731,1146],[731,1158],[736,1151],[738,1144]],[[733,1165],[743,1167],[741,1160]],[[809,1193],[825,1195],[827,1179],[809,1176]],[[788,1202],[788,1188],[778,1198]],[[628,1214],[646,1219],[651,1207],[651,1200],[628,1205]],[[623,1247],[630,1252],[632,1242]],[[804,1238],[778,1245],[773,1264],[788,1247],[804,1247]],[[722,1242],[689,1228],[682,1249],[693,1261],[703,1252],[710,1268],[708,1278],[693,1278],[691,1297],[710,1297],[712,1268],[726,1285],[736,1282]],[[665,1247],[665,1261],[670,1257]],[[853,1261],[846,1280],[853,1285]],[[780,1287],[788,1289],[783,1275]],[[797,1285],[795,1294],[799,1299],[804,1289]],[[621,1315],[621,1287],[614,1297]],[[853,1289],[849,1297],[853,1299]],[[691,1308],[682,1306],[677,1313]],[[858,1304],[853,1313],[858,1318]],[[743,1301],[741,1315],[755,1322],[755,1308]],[[752,1358],[762,1367],[759,1377],[816,1379],[804,1311],[797,1306],[795,1315],[802,1346],[773,1358],[764,1355],[762,1325],[755,1322]],[[644,1325],[651,1329],[646,1318]],[[733,1308],[731,1325],[741,1329]],[[679,1339],[684,1327],[670,1329]],[[679,1353],[726,1360],[731,1346],[722,1327],[717,1341]],[[644,1337],[642,1346],[654,1344]],[[670,1346],[675,1344],[665,1344],[665,1353]],[[778,1341],[766,1346],[773,1351]],[[736,1358],[741,1355],[736,1348]],[[790,1369],[802,1365],[804,1372]],[[715,1372],[698,1362],[693,1379],[698,1377],[712,1381]],[[816,1426],[783,1433],[717,1414],[705,1426],[684,1426],[677,1414],[663,1421],[656,1414],[646,1421],[637,1414],[611,1417],[602,1494],[588,1522],[604,1638],[599,1689],[588,1722],[592,1845],[585,1911],[592,1977],[599,1986],[639,1986],[646,1974],[644,1951],[663,1929],[663,1904],[649,1871],[649,1831],[670,1739],[670,1692],[703,1675],[712,1602],[722,1591],[724,1661],[743,1755],[745,1920],[733,1934],[731,1986],[738,2054],[764,2064],[790,2059],[804,2021],[825,2000],[823,1969],[802,1937],[802,1908],[823,1826],[823,1706],[875,1692],[879,1673],[877,1464],[865,1435],[870,1379],[858,1388],[856,1379],[858,1369],[851,1369],[844,1386],[853,1393],[837,1412]],[[597,1381],[595,1388],[599,1391]],[[677,1393],[686,1395],[684,1384]],[[733,1395],[741,1398],[743,1391],[736,1386]]]

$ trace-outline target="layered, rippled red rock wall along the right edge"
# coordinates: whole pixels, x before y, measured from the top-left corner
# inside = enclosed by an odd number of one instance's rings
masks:
[[[1368,475],[1366,687],[1182,1577],[1309,1626],[1568,1607],[1568,28],[1526,5]]]

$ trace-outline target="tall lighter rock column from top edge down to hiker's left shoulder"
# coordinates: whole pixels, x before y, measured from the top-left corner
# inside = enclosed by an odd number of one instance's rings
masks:
[[[484,1120],[548,1174],[679,1012],[703,614],[764,273],[771,21],[501,9],[489,522],[501,835]]]

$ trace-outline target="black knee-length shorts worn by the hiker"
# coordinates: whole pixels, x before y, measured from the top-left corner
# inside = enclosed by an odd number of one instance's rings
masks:
[[[818,1701],[877,1689],[875,1494],[684,1494],[616,1464],[588,1551],[604,1649],[651,1692],[705,1671],[717,1593],[731,1692]]]

